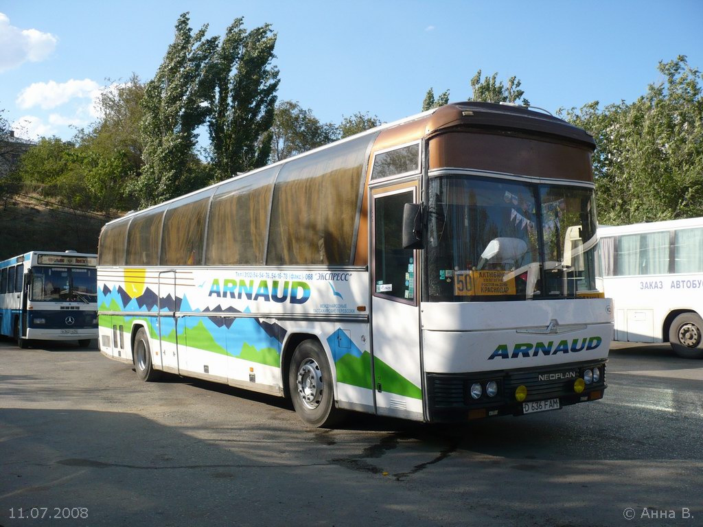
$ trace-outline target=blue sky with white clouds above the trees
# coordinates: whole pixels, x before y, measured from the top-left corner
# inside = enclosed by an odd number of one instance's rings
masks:
[[[420,111],[428,88],[471,94],[477,70],[515,75],[532,105],[555,112],[635,100],[659,60],[703,69],[703,1],[347,2],[0,0],[0,109],[18,135],[68,139],[98,115],[99,90],[153,77],[179,15],[224,34],[243,16],[278,33],[279,100],[323,122]]]

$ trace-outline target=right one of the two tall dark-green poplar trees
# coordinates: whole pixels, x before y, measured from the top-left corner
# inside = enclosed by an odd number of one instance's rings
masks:
[[[208,130],[214,178],[262,167],[271,155],[278,69],[276,34],[266,24],[247,33],[243,19],[227,28],[214,56],[215,83]]]

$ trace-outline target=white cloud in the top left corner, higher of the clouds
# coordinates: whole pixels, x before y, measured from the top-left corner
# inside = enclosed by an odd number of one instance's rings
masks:
[[[0,73],[27,62],[39,62],[49,57],[58,38],[39,30],[20,30],[0,13]]]

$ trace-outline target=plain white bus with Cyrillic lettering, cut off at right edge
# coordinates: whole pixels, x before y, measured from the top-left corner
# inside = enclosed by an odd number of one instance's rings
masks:
[[[703,358],[703,218],[600,227],[598,238],[614,339]]]

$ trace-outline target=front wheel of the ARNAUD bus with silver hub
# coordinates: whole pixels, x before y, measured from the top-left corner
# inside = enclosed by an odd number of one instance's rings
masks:
[[[293,407],[305,423],[325,428],[340,421],[341,412],[335,408],[332,370],[317,341],[303,341],[293,352],[288,388]]]

